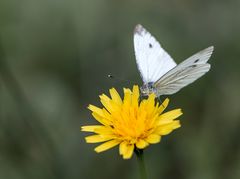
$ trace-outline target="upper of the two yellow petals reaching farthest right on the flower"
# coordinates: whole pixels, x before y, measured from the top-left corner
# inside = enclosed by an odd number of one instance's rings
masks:
[[[172,111],[163,113],[158,118],[158,125],[163,125],[172,122],[174,119],[182,115],[181,109],[174,109]]]

